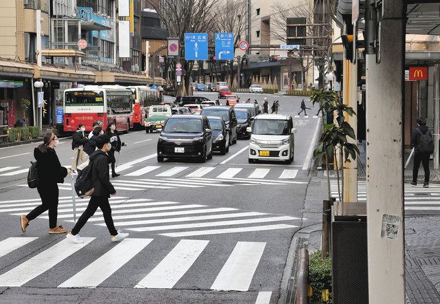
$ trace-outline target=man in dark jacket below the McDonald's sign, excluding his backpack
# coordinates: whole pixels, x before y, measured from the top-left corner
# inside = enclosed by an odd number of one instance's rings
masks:
[[[420,162],[423,164],[423,170],[425,171],[425,182],[423,187],[427,188],[429,186],[429,158],[432,151],[422,151],[421,147],[421,135],[428,134],[432,138],[432,134],[428,131],[426,127],[426,118],[417,118],[417,128],[412,130],[411,133],[411,147],[414,148],[414,166],[412,167],[412,186],[417,186],[417,176],[419,175]]]

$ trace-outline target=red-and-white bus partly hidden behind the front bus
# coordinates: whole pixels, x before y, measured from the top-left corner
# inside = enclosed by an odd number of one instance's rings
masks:
[[[142,128],[148,107],[151,105],[159,105],[159,91],[157,91],[157,89],[151,89],[151,87],[146,87],[145,85],[126,88],[133,91],[133,98],[135,99],[133,104],[133,127]]]

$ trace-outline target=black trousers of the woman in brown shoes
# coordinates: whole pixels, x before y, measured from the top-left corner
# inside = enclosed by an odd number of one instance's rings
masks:
[[[49,210],[49,228],[56,227],[56,218],[58,217],[58,185],[54,184],[39,184],[36,187],[41,197],[41,205],[36,206],[26,217],[32,221],[41,213]]]

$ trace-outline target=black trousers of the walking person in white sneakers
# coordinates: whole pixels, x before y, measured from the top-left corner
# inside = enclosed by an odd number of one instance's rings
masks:
[[[76,222],[75,227],[72,229],[72,235],[78,235],[81,228],[87,223],[90,217],[92,217],[96,209],[98,207],[102,211],[102,215],[104,216],[105,224],[107,225],[107,229],[109,229],[110,235],[118,235],[118,231],[113,224],[113,218],[111,217],[111,208],[108,197],[102,196],[92,196],[87,208],[84,213],[80,216],[78,221]]]

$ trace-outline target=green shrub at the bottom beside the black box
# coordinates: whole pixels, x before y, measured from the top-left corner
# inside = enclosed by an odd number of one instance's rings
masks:
[[[316,250],[309,255],[309,285],[313,294],[310,303],[325,303],[322,301],[322,290],[329,290],[331,301],[331,259],[321,259],[321,250]]]

